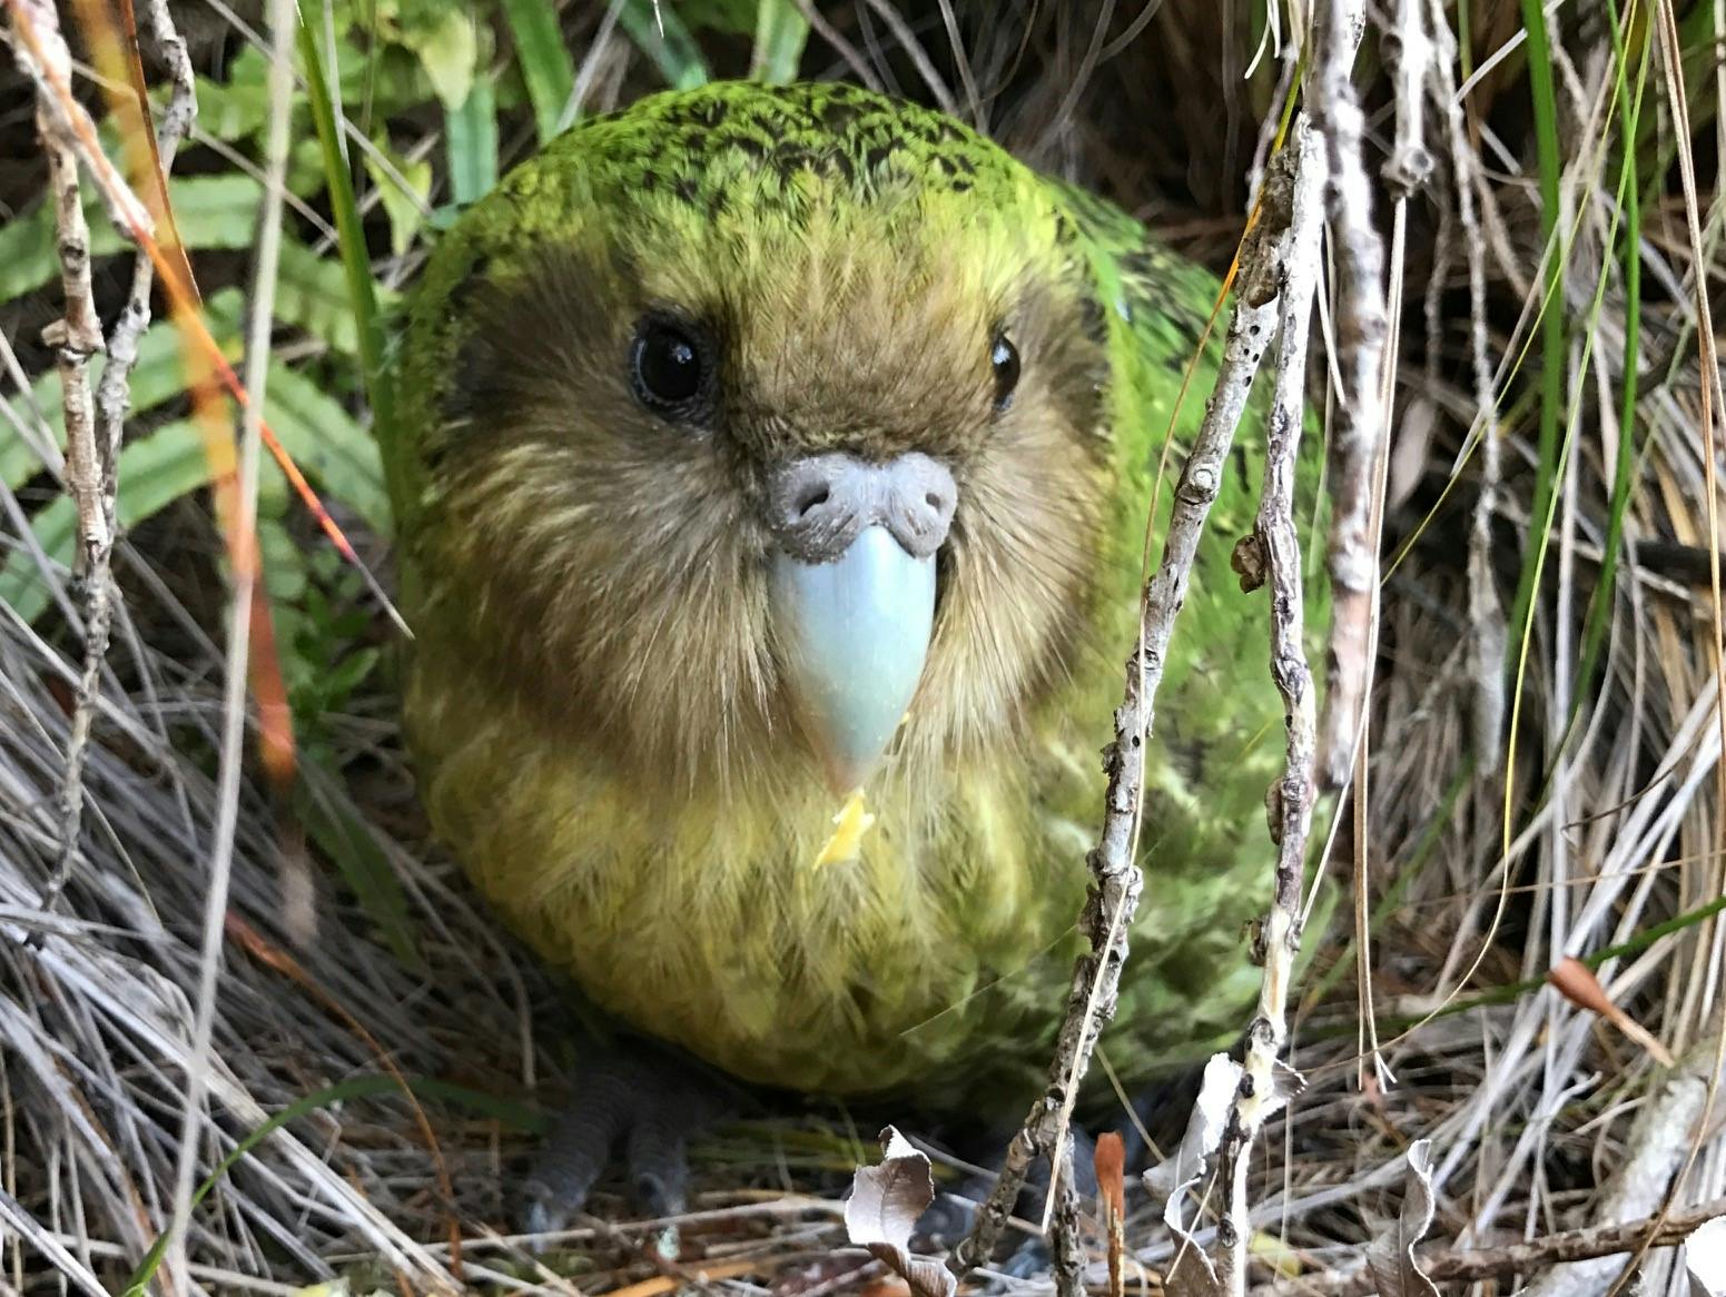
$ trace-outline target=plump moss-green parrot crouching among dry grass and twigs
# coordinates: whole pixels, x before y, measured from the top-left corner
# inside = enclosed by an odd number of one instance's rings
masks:
[[[1103,200],[849,85],[654,95],[464,212],[387,471],[411,752],[502,919],[735,1078],[1022,1114],[1217,295]],[[1282,709],[1229,555],[1262,450],[1250,414],[1162,685],[1103,1037],[1129,1085],[1258,985]],[[604,1076],[589,1152],[651,1090]]]

